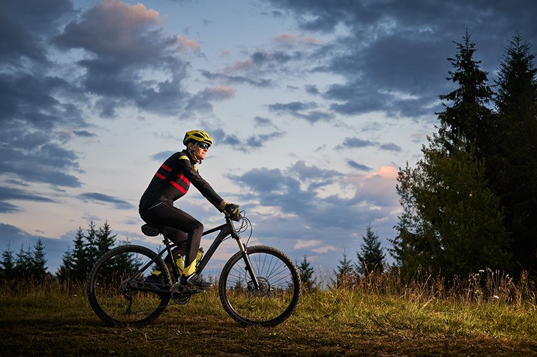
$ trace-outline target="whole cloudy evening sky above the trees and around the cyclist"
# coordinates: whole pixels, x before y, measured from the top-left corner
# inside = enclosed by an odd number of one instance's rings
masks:
[[[492,84],[517,32],[537,43],[536,14],[530,0],[0,0],[0,251],[41,239],[56,273],[90,222],[157,248],[139,198],[201,129],[199,172],[244,209],[249,244],[330,275],[370,224],[393,262],[397,172],[436,130],[456,43],[468,31]],[[194,187],[175,205],[223,222]]]

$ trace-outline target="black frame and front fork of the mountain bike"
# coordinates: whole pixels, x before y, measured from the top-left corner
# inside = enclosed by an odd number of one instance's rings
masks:
[[[198,262],[198,266],[196,268],[196,273],[201,274],[201,272],[203,271],[203,269],[205,268],[205,266],[207,265],[209,260],[211,260],[212,256],[216,252],[216,249],[218,249],[218,246],[220,246],[220,244],[222,244],[222,242],[227,238],[228,235],[231,235],[231,238],[236,240],[236,242],[237,242],[237,244],[239,246],[239,250],[240,250],[240,252],[242,254],[242,259],[244,260],[244,264],[246,265],[246,269],[248,270],[248,272],[250,274],[250,278],[251,278],[251,281],[253,282],[253,285],[254,285],[255,289],[260,289],[260,284],[259,284],[259,281],[258,281],[258,277],[255,275],[255,271],[253,270],[253,268],[251,266],[250,259],[249,259],[248,255],[246,253],[246,246],[244,246],[244,244],[242,243],[242,240],[240,239],[240,236],[238,235],[238,233],[236,233],[236,230],[235,230],[235,227],[233,225],[233,222],[231,221],[231,218],[229,218],[229,216],[226,216],[225,219],[226,219],[225,224],[221,224],[218,227],[214,227],[212,229],[204,231],[201,234],[203,236],[203,235],[207,235],[207,234],[211,234],[211,233],[220,231],[220,233],[218,233],[216,238],[214,238],[214,241],[212,242],[211,246],[209,246],[209,249],[207,249],[207,251],[203,254],[203,257],[201,258],[201,260]],[[174,247],[176,247],[177,244],[170,242],[170,238],[168,238],[168,235],[166,235],[165,229],[161,229],[161,234],[164,237],[163,243],[165,245],[165,249],[163,249],[162,251],[157,253],[157,257],[161,257],[165,252],[167,252],[170,255],[170,257],[173,257],[172,249]],[[136,275],[138,275],[142,271],[146,270],[146,268],[148,268],[148,266],[150,266],[153,262],[155,262],[155,260],[157,260],[157,257],[155,257],[155,259],[153,259],[150,262],[148,262],[148,264],[146,264],[145,266],[141,267],[139,272]],[[172,259],[172,261],[173,261],[173,259]],[[179,268],[177,268],[176,264],[172,264],[172,275],[173,275],[174,281],[177,281],[179,279],[179,277],[180,277]]]

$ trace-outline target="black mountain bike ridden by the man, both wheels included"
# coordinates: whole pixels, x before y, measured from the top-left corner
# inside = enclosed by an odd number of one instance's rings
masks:
[[[220,273],[218,295],[225,311],[240,325],[270,327],[285,321],[300,299],[300,276],[287,255],[271,246],[248,246],[252,235],[250,220],[241,212],[238,223],[225,214],[225,224],[203,232],[219,232],[207,252],[197,262],[203,268],[228,238],[236,240],[239,251],[229,258]],[[168,303],[185,304],[204,292],[179,282],[177,264],[168,269],[162,257],[177,245],[166,235],[165,227],[144,224],[142,232],[163,236],[164,249],[158,253],[145,246],[124,244],[105,253],[95,263],[88,280],[91,308],[104,323],[112,326],[141,327],[157,319]],[[249,231],[246,244],[240,234]],[[146,278],[159,270],[159,281]],[[150,281],[150,282],[149,282]]]

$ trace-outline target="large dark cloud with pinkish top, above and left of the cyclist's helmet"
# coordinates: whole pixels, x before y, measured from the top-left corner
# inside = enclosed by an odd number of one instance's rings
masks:
[[[182,89],[187,63],[176,56],[178,38],[165,34],[161,22],[158,12],[141,3],[103,0],[53,39],[60,49],[83,49],[89,55],[78,61],[86,70],[82,86],[99,96],[104,117],[126,104],[165,115],[181,111],[189,97]],[[192,47],[186,40],[184,45]],[[165,79],[146,78],[148,71]]]

